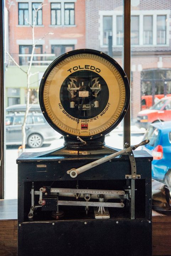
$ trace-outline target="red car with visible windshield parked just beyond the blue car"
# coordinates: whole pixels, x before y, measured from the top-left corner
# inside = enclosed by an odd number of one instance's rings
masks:
[[[147,129],[151,123],[171,120],[171,97],[164,97],[147,110],[142,110],[137,116],[139,128]]]

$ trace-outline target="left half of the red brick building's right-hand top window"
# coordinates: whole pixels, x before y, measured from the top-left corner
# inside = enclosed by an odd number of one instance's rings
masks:
[[[61,25],[60,3],[51,3],[51,25]]]

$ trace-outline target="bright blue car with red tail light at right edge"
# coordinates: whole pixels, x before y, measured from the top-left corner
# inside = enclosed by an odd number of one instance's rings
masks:
[[[152,177],[171,188],[171,121],[151,124],[143,139],[150,140],[143,149],[153,156]]]

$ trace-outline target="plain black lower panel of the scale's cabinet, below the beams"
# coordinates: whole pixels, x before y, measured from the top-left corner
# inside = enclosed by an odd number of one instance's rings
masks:
[[[29,222],[18,233],[18,256],[152,255],[151,222],[142,219]]]

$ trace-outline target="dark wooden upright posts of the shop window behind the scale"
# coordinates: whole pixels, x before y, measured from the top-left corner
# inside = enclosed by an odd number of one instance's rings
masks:
[[[4,156],[5,156],[5,98],[4,98],[4,0],[0,5],[0,126],[1,126],[1,165],[0,165],[0,198],[4,198]],[[130,81],[130,0],[124,0],[124,71]],[[124,117],[123,143],[130,143],[130,106]]]

